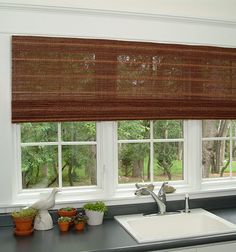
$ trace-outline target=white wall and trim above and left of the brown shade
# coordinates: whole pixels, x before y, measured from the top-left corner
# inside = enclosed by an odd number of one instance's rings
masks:
[[[26,2],[31,6],[22,5]],[[45,5],[36,7],[32,2]],[[66,2],[70,8],[65,7]],[[56,10],[50,8],[55,3]],[[0,206],[13,204],[16,193],[11,125],[12,34],[236,47],[235,7],[233,0],[224,4],[217,0],[147,0],[145,4],[138,0],[100,0],[99,4],[92,0],[0,0]]]

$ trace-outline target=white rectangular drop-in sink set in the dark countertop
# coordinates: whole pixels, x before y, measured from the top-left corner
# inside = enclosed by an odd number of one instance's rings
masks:
[[[120,215],[115,219],[139,243],[236,232],[236,225],[204,209],[190,213]]]

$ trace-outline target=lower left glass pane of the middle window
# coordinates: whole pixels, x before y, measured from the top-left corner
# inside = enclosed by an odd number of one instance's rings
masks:
[[[136,183],[149,180],[149,144],[119,144],[119,183]]]

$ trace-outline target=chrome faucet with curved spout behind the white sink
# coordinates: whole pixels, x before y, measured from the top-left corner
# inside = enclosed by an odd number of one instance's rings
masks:
[[[148,192],[153,197],[155,202],[157,203],[157,206],[160,211],[159,213],[164,214],[166,212],[166,194],[164,191],[164,186],[167,184],[168,184],[168,182],[164,182],[161,185],[161,188],[160,188],[157,195],[152,190],[148,189],[147,187],[140,187],[139,189],[137,189],[135,191],[135,195],[140,196],[143,192]]]

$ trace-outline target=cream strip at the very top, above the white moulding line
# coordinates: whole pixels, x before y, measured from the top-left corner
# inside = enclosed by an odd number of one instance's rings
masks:
[[[236,20],[235,0],[1,0],[1,3]]]

